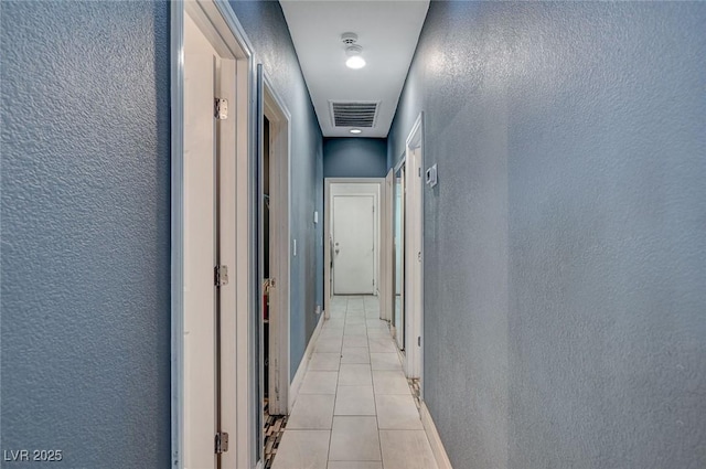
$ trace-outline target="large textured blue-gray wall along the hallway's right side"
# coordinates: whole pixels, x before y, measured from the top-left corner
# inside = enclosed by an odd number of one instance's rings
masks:
[[[706,3],[431,2],[425,398],[454,468],[706,467]]]

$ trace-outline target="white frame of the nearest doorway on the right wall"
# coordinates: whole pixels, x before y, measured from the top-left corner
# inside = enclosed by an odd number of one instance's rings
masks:
[[[424,392],[424,113],[405,141],[405,371]]]

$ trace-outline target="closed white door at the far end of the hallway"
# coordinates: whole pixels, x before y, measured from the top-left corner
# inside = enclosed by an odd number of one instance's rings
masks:
[[[333,292],[375,292],[375,198],[333,196]]]

